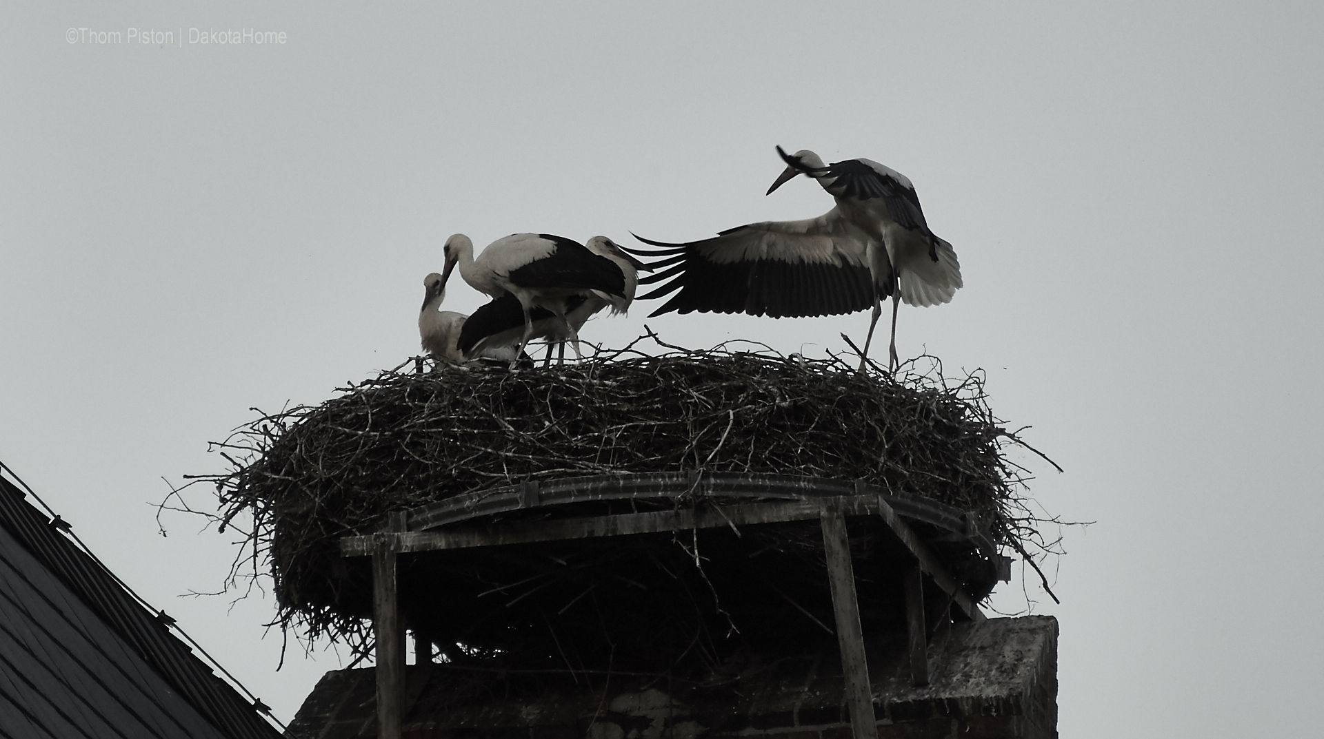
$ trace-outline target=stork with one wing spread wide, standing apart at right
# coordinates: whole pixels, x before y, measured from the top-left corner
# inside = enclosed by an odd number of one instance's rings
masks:
[[[956,251],[928,229],[915,188],[904,175],[867,159],[824,165],[812,151],[788,155],[777,147],[777,153],[788,167],[768,193],[805,175],[818,180],[837,205],[818,218],[749,223],[690,243],[637,237],[666,247],[634,251],[663,256],[650,267],[671,266],[639,282],[675,278],[639,299],[679,290],[650,316],[670,311],[831,316],[873,307],[863,349],[867,356],[882,300],[891,296],[888,366],[895,368],[900,300],[924,307],[951,301],[961,287]]]

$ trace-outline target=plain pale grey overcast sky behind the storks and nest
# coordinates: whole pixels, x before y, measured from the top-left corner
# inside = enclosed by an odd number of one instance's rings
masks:
[[[1062,735],[1313,734],[1321,8],[9,4],[0,460],[289,720],[336,654],[275,672],[270,602],[180,598],[218,586],[230,537],[160,537],[163,477],[221,471],[207,442],[250,406],[416,354],[451,233],[690,241],[828,210],[804,178],[764,197],[775,144],[863,156],[911,177],[965,278],[902,309],[902,354],[988,370],[1066,468],[1023,459],[1035,497],[1096,521],[1066,531],[1062,605],[1029,588],[1061,620]],[[449,308],[481,303],[453,280]],[[650,309],[584,336],[622,345]],[[647,323],[821,356],[867,313]]]

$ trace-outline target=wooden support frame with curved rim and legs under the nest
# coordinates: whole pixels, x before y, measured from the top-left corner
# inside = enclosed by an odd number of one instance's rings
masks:
[[[594,504],[628,501],[629,512],[583,514]],[[520,516],[520,514],[526,516]],[[530,513],[538,516],[530,520]],[[945,594],[952,617],[980,623],[974,598],[911,522],[940,531],[978,553],[1001,578],[1009,561],[977,518],[933,501],[898,496],[862,481],[771,475],[654,473],[600,476],[522,484],[459,496],[391,516],[384,530],[340,542],[344,557],[372,557],[375,628],[377,637],[379,736],[396,739],[405,706],[404,628],[400,617],[397,559],[401,555],[503,547],[600,537],[632,537],[663,531],[698,531],[817,520],[830,583],[834,628],[842,664],[845,702],[854,739],[875,739],[870,673],[863,646],[857,578],[853,571],[847,517],[880,521],[880,530],[902,561],[911,680],[928,682],[928,633],[932,615],[924,612],[924,588]],[[908,522],[910,521],[910,522]],[[933,537],[929,537],[933,538]],[[943,620],[947,620],[944,607]],[[810,616],[812,617],[812,616]],[[828,628],[825,625],[825,628]]]

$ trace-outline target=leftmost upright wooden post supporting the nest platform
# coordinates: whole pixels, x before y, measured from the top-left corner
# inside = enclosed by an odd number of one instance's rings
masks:
[[[372,553],[372,628],[377,639],[377,739],[400,739],[405,695],[405,632],[396,596],[396,550],[391,534]]]

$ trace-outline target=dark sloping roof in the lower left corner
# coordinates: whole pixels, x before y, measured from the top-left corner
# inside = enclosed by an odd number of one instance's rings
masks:
[[[281,735],[24,498],[0,477],[0,738]]]

